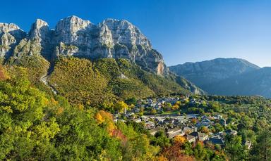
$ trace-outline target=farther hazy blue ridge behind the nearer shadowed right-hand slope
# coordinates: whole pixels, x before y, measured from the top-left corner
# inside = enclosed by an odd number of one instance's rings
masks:
[[[200,88],[205,87],[203,89],[205,91],[209,91],[207,84],[258,69],[260,67],[257,65],[239,58],[216,58],[214,60],[184,63],[169,67],[169,70],[176,73],[176,75],[185,77],[200,86]]]

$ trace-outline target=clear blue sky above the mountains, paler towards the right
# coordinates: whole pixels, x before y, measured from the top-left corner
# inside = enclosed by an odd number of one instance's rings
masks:
[[[244,58],[271,66],[271,1],[267,0],[119,0],[1,1],[0,22],[23,30],[37,18],[54,28],[68,15],[93,23],[126,19],[140,28],[167,65]]]

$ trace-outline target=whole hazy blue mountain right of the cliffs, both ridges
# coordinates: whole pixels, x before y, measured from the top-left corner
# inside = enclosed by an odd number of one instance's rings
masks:
[[[239,58],[216,58],[169,67],[208,94],[271,97],[271,69]]]

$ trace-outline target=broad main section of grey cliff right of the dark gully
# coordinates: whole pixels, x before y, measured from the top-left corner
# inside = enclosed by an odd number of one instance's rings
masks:
[[[59,50],[59,46],[58,56],[127,58],[150,72],[159,75],[168,72],[162,55],[152,49],[147,37],[126,20],[108,19],[94,25],[89,20],[71,16],[58,22],[53,39],[55,46],[61,43],[74,46],[66,50]]]

